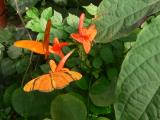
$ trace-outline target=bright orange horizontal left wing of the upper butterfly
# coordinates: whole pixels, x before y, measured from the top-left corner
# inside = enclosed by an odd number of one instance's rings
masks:
[[[38,54],[45,54],[43,50],[43,44],[38,41],[33,40],[20,40],[16,41],[14,43],[14,46],[28,49],[32,52],[38,53]]]

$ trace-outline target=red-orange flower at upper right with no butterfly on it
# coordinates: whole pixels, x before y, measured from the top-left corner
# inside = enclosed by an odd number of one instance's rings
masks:
[[[95,24],[91,24],[88,28],[83,27],[84,18],[85,14],[82,13],[79,19],[78,33],[72,33],[71,37],[83,44],[84,50],[86,54],[88,54],[91,49],[91,42],[95,38],[97,30]]]

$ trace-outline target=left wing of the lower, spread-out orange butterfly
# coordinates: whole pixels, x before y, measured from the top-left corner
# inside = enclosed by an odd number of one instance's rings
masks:
[[[29,81],[23,89],[26,92],[30,92],[33,90],[50,92],[54,90],[54,84],[52,83],[51,74],[45,74],[34,78],[33,80]]]

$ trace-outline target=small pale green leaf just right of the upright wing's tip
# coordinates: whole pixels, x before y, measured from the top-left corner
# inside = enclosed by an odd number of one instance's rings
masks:
[[[61,13],[54,10],[54,15],[51,17],[53,26],[62,25],[62,19]]]

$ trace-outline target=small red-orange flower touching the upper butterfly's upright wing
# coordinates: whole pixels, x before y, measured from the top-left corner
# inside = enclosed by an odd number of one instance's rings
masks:
[[[63,58],[64,54],[62,52],[62,48],[64,46],[68,46],[68,43],[67,42],[60,43],[58,38],[54,38],[53,46],[49,49],[49,51]]]

